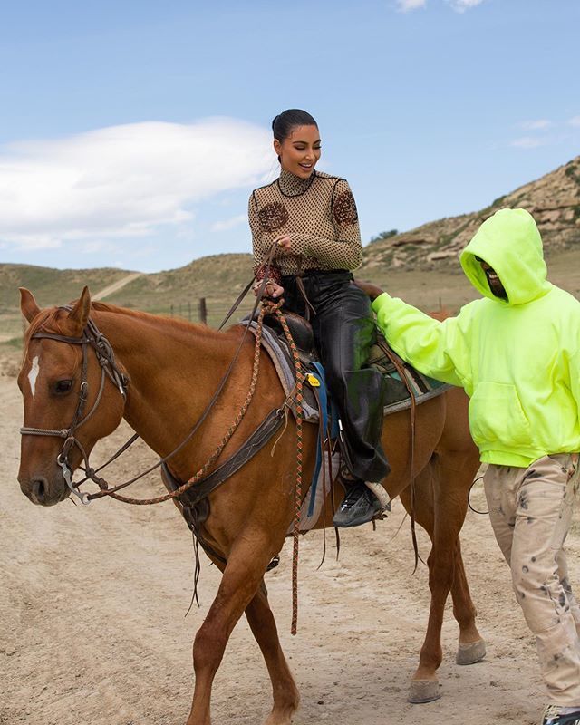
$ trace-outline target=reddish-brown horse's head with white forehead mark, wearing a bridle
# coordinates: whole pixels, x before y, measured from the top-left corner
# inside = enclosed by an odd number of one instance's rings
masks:
[[[119,425],[122,373],[90,321],[87,287],[72,306],[45,310],[27,289],[20,294],[30,325],[18,375],[24,398],[18,481],[33,503],[53,506],[68,498],[67,478],[87,464],[97,440]]]

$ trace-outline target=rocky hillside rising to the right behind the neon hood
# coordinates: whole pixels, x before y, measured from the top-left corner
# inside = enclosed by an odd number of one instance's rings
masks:
[[[580,248],[580,156],[532,181],[489,207],[443,218],[365,247],[362,270],[367,276],[385,267],[424,269],[449,266],[473,237],[482,221],[500,208],[526,208],[536,218],[546,249],[553,256],[566,248]]]

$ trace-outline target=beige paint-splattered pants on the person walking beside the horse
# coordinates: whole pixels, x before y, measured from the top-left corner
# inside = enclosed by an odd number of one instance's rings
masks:
[[[568,453],[527,469],[490,465],[484,476],[491,525],[536,636],[549,701],[566,707],[580,707],[580,608],[563,549],[579,476],[577,455]]]

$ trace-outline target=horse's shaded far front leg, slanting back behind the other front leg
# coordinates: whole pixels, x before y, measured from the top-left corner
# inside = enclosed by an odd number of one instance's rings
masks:
[[[266,585],[262,581],[246,609],[247,621],[262,650],[272,681],[274,707],[265,725],[289,725],[298,708],[299,696],[294,678],[280,647],[274,615],[268,604]]]

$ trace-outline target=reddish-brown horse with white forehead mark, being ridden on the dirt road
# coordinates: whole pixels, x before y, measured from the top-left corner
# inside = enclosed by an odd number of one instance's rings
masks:
[[[24,426],[41,432],[23,436],[18,480],[24,494],[43,506],[68,498],[70,489],[57,460],[63,451],[63,440],[42,431],[63,430],[71,420],[79,418],[81,425],[75,435],[89,453],[124,417],[151,449],[165,457],[186,438],[192,421],[198,420],[205,410],[243,334],[238,326],[219,333],[108,304],[91,304],[86,287],[69,309],[41,310],[30,292],[21,290],[21,295],[22,312],[30,322],[18,378],[24,396]],[[110,382],[109,377],[102,375],[97,356],[89,350],[83,362],[81,346],[73,343],[73,338],[82,337],[89,320],[114,351],[116,365],[127,381],[126,400],[118,381]],[[66,343],[51,334],[71,340]],[[232,411],[237,411],[246,399],[253,356],[253,343],[247,339],[210,416],[193,439],[170,459],[170,469],[179,479],[187,481],[223,438],[231,424]],[[266,355],[261,357],[256,396],[227,449],[235,450],[242,445],[267,411],[279,408],[285,399],[273,365]],[[82,385],[83,378],[88,388]],[[82,395],[87,400],[80,415]],[[314,468],[315,437],[315,427],[305,426],[305,480]],[[272,681],[274,705],[266,725],[288,725],[298,707],[298,691],[280,647],[263,578],[266,566],[282,548],[293,519],[292,417],[284,433],[275,438],[275,456],[271,455],[274,440],[270,440],[209,497],[205,536],[218,555],[213,559],[223,576],[193,645],[195,691],[187,725],[209,725],[212,682],[229,635],[244,612]],[[408,412],[394,413],[385,419],[384,444],[391,462],[391,475],[384,485],[391,498],[401,496],[410,510]],[[485,653],[475,625],[476,611],[459,547],[469,487],[478,468],[477,450],[469,437],[467,398],[462,391],[447,391],[418,406],[413,457],[418,472],[415,517],[427,530],[432,549],[428,561],[429,625],[419,667],[411,681],[410,699],[430,701],[439,696],[440,631],[449,591],[459,623],[458,662],[477,662]],[[73,446],[68,460],[71,469],[78,467],[82,462],[80,449]],[[340,500],[338,492],[335,499]],[[330,525],[330,505],[326,510],[327,520],[320,522],[320,526]],[[410,575],[411,569],[412,562]]]

